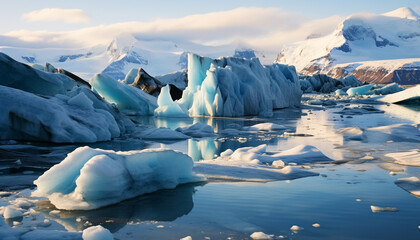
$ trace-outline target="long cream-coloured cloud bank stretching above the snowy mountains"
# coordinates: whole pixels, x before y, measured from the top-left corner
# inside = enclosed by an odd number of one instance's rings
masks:
[[[42,11],[42,10],[41,10]],[[332,32],[341,18],[312,21],[279,8],[236,8],[150,22],[122,22],[66,32],[18,30],[4,34],[10,40],[44,47],[90,47],[107,45],[120,35],[142,40],[171,40],[200,44],[227,44],[233,41],[255,48],[279,51],[285,43],[303,40],[310,34]],[[9,41],[10,42],[10,41]]]

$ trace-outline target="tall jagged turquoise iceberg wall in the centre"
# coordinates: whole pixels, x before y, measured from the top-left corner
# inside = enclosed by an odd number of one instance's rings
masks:
[[[193,116],[271,116],[273,108],[299,106],[301,95],[292,66],[189,54],[188,86],[177,103]]]

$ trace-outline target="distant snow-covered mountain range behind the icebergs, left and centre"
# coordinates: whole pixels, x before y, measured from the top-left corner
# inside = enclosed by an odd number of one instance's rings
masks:
[[[187,68],[187,53],[193,52],[213,58],[236,56],[260,57],[244,43],[233,42],[221,46],[206,46],[191,42],[169,40],[142,40],[133,35],[114,38],[108,45],[89,48],[19,48],[0,46],[0,52],[27,64],[50,64],[90,79],[95,73],[104,73],[115,79],[124,79],[132,68],[142,67],[151,75],[164,75]],[[265,60],[268,63],[270,60]],[[272,61],[272,60],[271,60]]]

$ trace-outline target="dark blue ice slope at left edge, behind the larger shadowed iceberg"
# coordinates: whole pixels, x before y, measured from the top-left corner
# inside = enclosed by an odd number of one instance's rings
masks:
[[[46,96],[65,94],[76,86],[71,78],[63,74],[36,70],[1,52],[0,76],[0,85]]]

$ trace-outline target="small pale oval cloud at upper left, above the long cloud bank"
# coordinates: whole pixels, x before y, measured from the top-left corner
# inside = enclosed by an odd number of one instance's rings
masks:
[[[64,21],[66,23],[87,23],[89,17],[81,9],[43,8],[22,14],[29,22]]]

